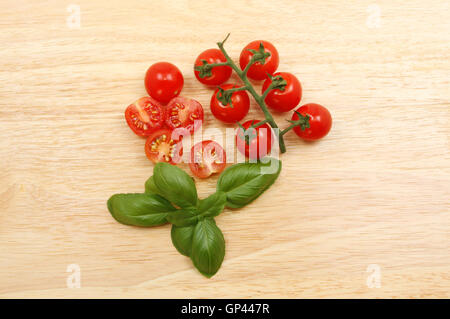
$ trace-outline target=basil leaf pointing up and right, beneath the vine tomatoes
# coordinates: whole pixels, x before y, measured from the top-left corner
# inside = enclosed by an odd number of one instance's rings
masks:
[[[274,165],[274,166],[271,166]],[[240,208],[264,193],[277,179],[281,161],[240,163],[228,167],[217,181],[217,190],[227,194],[227,207]]]

